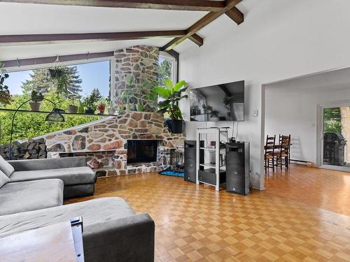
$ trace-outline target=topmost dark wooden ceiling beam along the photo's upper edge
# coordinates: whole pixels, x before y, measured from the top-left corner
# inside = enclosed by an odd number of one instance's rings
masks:
[[[61,6],[94,6],[111,8],[147,8],[217,12],[225,1],[213,0],[0,0],[8,3],[41,3]]]

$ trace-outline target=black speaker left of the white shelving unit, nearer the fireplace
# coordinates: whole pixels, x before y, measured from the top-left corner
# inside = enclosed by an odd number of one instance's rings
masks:
[[[201,141],[201,145],[204,141]],[[196,182],[196,140],[185,141],[185,175],[183,179],[188,182]],[[201,156],[204,158],[204,156]],[[201,167],[202,168],[202,167]]]

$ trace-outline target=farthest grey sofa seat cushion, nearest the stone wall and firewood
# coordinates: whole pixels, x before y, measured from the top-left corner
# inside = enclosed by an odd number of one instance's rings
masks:
[[[50,168],[50,166],[48,166]],[[80,166],[78,168],[58,168],[46,170],[15,171],[10,176],[10,182],[20,182],[28,180],[43,180],[58,178],[69,184],[91,184],[96,180],[96,175],[91,168]]]

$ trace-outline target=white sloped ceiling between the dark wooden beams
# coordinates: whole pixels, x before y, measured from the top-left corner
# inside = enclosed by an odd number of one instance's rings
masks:
[[[239,9],[247,17],[248,10],[258,0],[244,0]],[[113,31],[153,31],[187,29],[207,12],[150,10],[134,8],[97,8],[86,6],[54,6],[30,3],[0,3],[0,35],[8,34],[69,34]],[[234,23],[223,15],[198,32],[203,38],[210,31]],[[172,38],[153,38],[133,41],[104,41],[90,43],[55,43],[45,45],[0,46],[0,59],[24,59],[85,52],[118,50],[131,45],[162,46]],[[186,40],[176,51],[182,52],[195,45]],[[204,40],[205,45],[205,40]]]

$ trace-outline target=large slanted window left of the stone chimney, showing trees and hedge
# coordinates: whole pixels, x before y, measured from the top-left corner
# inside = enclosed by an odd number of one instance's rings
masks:
[[[55,64],[54,64],[55,65]],[[51,68],[55,68],[50,65]],[[4,84],[8,85],[10,94],[13,95],[13,101],[8,105],[0,107],[0,124],[1,124],[1,140],[0,144],[9,142],[11,121],[14,111],[18,106],[30,99],[32,90],[41,91],[45,99],[54,102],[57,108],[68,111],[69,104],[79,105],[84,98],[92,93],[97,96],[97,102],[94,104],[94,110],[97,110],[99,103],[109,103],[110,85],[113,80],[111,75],[110,60],[95,60],[83,64],[69,63],[59,64],[70,76],[68,92],[57,92],[57,82],[52,82],[52,78],[48,76],[48,66],[36,68],[26,67],[25,71],[9,71],[9,77]],[[23,69],[23,68],[18,68]],[[17,70],[17,69],[15,69]],[[113,99],[113,98],[112,98]],[[107,105],[108,107],[109,105]],[[7,109],[7,110],[1,110]],[[51,111],[52,103],[48,101],[41,102],[40,111]],[[29,103],[22,106],[23,110],[30,110]],[[85,107],[86,109],[86,107]],[[18,112],[14,122],[13,140],[26,140],[42,136],[45,133],[52,133],[62,129],[69,129],[73,126],[85,124],[88,122],[101,119],[102,117],[92,115],[64,115],[65,122],[45,122],[46,114]]]

